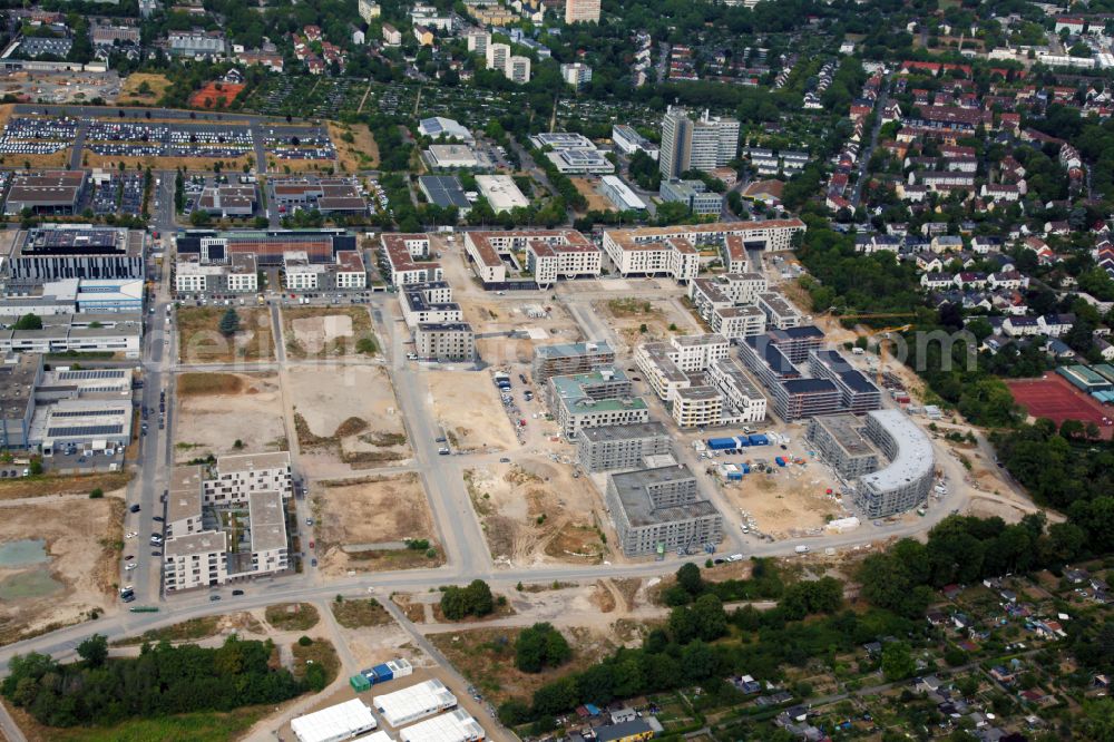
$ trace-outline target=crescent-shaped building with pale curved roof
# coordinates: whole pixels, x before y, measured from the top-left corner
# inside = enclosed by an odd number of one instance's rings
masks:
[[[921,429],[900,410],[874,410],[867,414],[866,436],[890,462],[859,479],[856,508],[868,518],[886,518],[925,502],[936,462]]]

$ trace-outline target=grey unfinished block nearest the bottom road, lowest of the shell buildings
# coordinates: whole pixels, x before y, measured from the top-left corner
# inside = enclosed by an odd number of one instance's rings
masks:
[[[723,516],[700,498],[686,465],[609,475],[605,500],[626,556],[692,553],[723,540]]]

